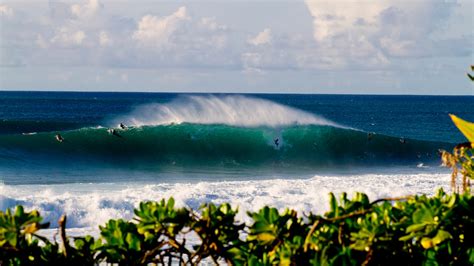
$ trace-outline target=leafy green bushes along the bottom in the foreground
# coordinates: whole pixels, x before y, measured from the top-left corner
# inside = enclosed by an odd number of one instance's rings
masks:
[[[361,193],[339,201],[330,194],[324,215],[264,207],[242,224],[229,204],[194,212],[170,198],[141,203],[132,221],[108,221],[98,239],[68,238],[60,222],[64,244],[39,234],[48,224],[38,212],[17,206],[0,212],[0,264],[472,265],[472,206],[471,194],[442,190],[373,202]]]

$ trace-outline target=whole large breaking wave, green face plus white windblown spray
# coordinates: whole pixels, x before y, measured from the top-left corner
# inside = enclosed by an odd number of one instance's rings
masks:
[[[114,164],[142,166],[300,167],[423,163],[442,142],[400,139],[347,128],[315,114],[246,96],[182,96],[109,120],[128,128],[82,127],[0,135],[0,166]],[[14,121],[34,128],[36,123]]]

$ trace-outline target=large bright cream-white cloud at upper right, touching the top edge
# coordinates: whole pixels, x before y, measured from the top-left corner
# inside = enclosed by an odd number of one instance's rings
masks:
[[[305,3],[313,18],[315,45],[324,52],[320,55],[332,54],[333,60],[343,68],[384,68],[395,57],[459,53],[455,49],[447,51],[439,44],[444,40],[434,37],[448,24],[456,3],[426,0],[306,0]]]

